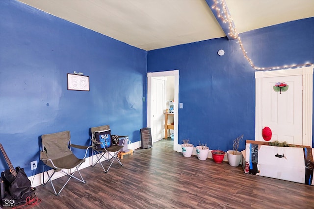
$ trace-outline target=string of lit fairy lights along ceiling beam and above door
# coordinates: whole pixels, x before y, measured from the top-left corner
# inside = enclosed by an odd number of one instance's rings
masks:
[[[219,5],[220,4],[220,5]],[[307,67],[307,66],[314,66],[313,63],[306,62],[304,64],[292,64],[292,65],[284,65],[284,66],[276,66],[276,67],[269,67],[269,68],[260,68],[256,67],[252,60],[248,57],[247,52],[244,49],[244,46],[242,44],[241,38],[239,36],[239,33],[235,27],[234,21],[227,9],[226,3],[224,0],[214,0],[214,5],[211,7],[212,9],[215,9],[217,12],[217,17],[223,22],[228,24],[229,33],[228,35],[234,39],[237,40],[237,43],[240,45],[240,49],[242,50],[244,57],[247,59],[247,61],[250,63],[251,67],[255,70],[279,70],[279,69],[292,69],[292,68],[301,68],[301,67]],[[220,9],[221,8],[221,9]]]

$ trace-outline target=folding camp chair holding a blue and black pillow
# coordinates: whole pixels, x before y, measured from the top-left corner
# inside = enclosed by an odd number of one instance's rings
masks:
[[[100,142],[99,140],[96,139],[96,132],[102,132],[105,130],[110,130],[109,125],[91,128],[91,141],[92,141],[92,167],[94,167],[97,163],[100,163],[103,170],[106,173],[106,172],[108,172],[108,170],[110,169],[110,167],[114,161],[116,161],[121,166],[123,166],[123,164],[121,163],[121,161],[118,158],[118,154],[119,154],[119,152],[123,146],[111,145],[111,146],[106,148],[106,144],[104,142]],[[113,136],[110,136],[110,138],[111,137],[113,137]],[[127,137],[128,136],[116,136],[116,138],[118,138],[118,139],[123,139],[123,142],[124,142],[124,139],[126,139]],[[100,145],[102,145],[102,147],[100,147]],[[97,158],[95,163],[93,163],[94,162],[93,161],[94,154]],[[102,158],[104,158],[104,161],[107,161],[110,163],[108,168],[106,168],[106,169],[105,169],[105,167],[101,161]]]

